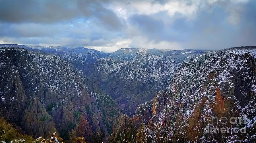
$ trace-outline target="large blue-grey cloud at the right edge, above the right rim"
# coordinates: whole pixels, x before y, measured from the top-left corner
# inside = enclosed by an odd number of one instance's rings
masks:
[[[207,9],[199,9],[193,20],[185,20],[173,29],[182,27],[188,36],[184,39],[183,47],[193,49],[222,49],[243,45],[256,45],[256,1],[249,1],[243,5],[220,2]],[[253,8],[254,6],[254,8]],[[240,8],[241,11],[236,10]],[[233,13],[232,10],[235,9]],[[250,29],[250,30],[249,30]]]

